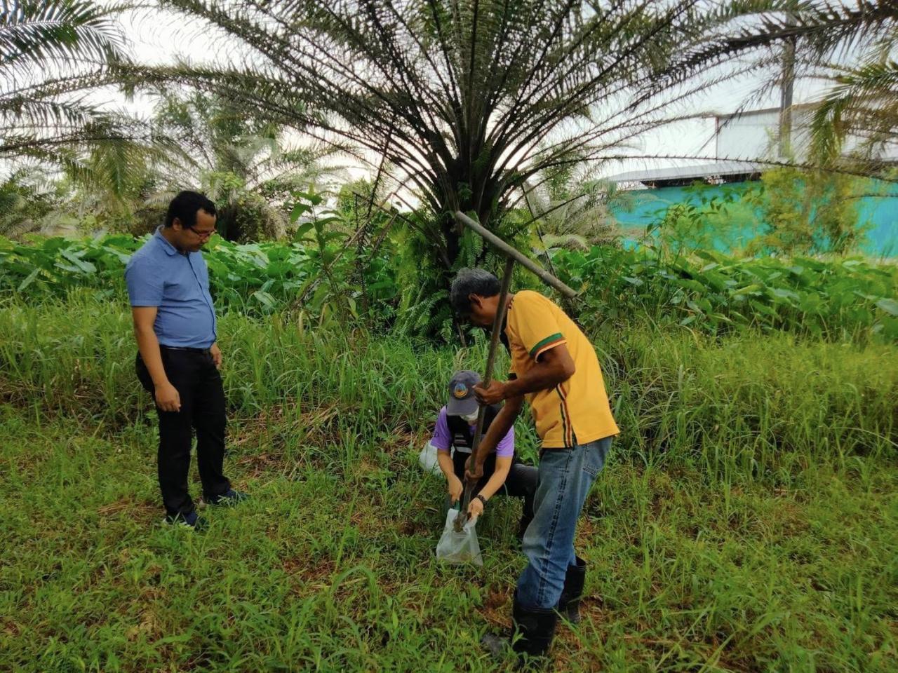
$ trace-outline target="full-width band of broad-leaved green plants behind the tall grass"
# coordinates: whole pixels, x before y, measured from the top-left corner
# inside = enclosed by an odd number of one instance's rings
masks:
[[[409,286],[403,275],[420,273],[413,251],[403,258],[396,243],[376,239],[357,249],[350,234],[334,228],[343,222],[339,213],[322,207],[321,200],[297,203],[297,216],[314,217],[291,243],[213,240],[204,254],[216,301],[254,314],[286,307],[316,318],[335,310],[343,318],[364,313],[383,324],[398,319],[405,333],[443,330],[445,340],[457,337],[445,293],[427,294],[427,285]],[[92,286],[120,293],[124,264],[141,243],[123,235],[0,240],[0,289],[64,297]],[[460,262],[476,262],[476,247]],[[594,247],[558,250],[552,268],[582,289],[571,308],[586,325],[647,316],[710,334],[762,328],[836,340],[898,339],[898,269],[860,258],[732,258],[707,250],[676,255]],[[523,272],[519,281],[533,283]]]

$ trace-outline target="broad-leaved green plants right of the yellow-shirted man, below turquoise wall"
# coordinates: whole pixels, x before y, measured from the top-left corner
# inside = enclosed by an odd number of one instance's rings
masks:
[[[717,333],[736,326],[825,338],[898,337],[898,269],[862,259],[690,257],[651,249],[559,252],[556,270],[585,285],[581,319],[647,314]]]

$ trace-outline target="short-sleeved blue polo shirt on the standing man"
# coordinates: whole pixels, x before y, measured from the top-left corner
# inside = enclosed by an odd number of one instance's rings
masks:
[[[153,329],[161,345],[208,348],[216,342],[209,270],[199,252],[180,253],[159,227],[128,259],[131,306],[157,306]]]

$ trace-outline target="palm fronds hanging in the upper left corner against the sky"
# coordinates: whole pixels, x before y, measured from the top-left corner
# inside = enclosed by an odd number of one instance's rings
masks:
[[[58,182],[52,207],[31,214],[15,232],[40,228],[53,214],[90,212],[103,225],[125,218],[149,165],[175,151],[140,120],[94,102],[98,89],[118,85],[113,66],[128,62],[116,21],[120,10],[88,0],[2,5],[0,158],[9,167],[6,186],[22,187],[22,171],[34,162],[45,181]],[[26,187],[32,197],[43,194],[31,183]]]

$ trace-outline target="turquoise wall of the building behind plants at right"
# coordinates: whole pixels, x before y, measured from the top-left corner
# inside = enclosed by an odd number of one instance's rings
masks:
[[[625,245],[634,246],[638,239],[638,232],[644,231],[648,224],[660,219],[670,205],[683,202],[700,205],[702,198],[710,200],[713,197],[723,197],[726,192],[739,193],[756,184],[732,182],[727,185],[702,188],[700,193],[689,187],[640,189],[628,192],[631,197],[628,206],[612,208],[612,214],[627,232]],[[862,248],[870,255],[898,257],[898,185],[885,185],[879,190],[883,196],[860,199],[860,221],[870,224],[867,239]],[[735,240],[739,245],[744,245],[761,230],[761,222],[755,223],[753,226],[746,226],[744,231],[737,232]],[[729,246],[720,242],[717,247],[721,251],[727,252],[726,248]]]

